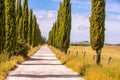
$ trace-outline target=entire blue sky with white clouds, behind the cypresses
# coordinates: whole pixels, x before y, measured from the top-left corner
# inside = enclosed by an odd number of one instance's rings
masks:
[[[37,16],[42,35],[48,37],[56,20],[59,3],[62,0],[28,0]],[[89,16],[91,0],[71,0],[72,30],[71,42],[89,41]],[[120,0],[106,0],[105,43],[120,43]]]

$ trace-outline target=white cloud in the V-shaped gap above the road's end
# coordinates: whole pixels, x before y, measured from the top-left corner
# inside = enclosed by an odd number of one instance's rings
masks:
[[[41,10],[34,11],[34,14],[37,16],[42,35],[48,37],[48,33],[56,20],[57,12],[53,10]]]

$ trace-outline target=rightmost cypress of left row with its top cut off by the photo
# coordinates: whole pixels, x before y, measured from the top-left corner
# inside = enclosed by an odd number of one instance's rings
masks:
[[[28,38],[28,0],[24,0],[24,4],[23,4],[23,32],[24,32],[24,39],[27,42],[27,38]]]

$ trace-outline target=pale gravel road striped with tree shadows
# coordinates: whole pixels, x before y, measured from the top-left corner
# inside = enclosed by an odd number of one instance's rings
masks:
[[[6,80],[83,80],[66,68],[47,47],[41,47],[30,59],[11,71]]]

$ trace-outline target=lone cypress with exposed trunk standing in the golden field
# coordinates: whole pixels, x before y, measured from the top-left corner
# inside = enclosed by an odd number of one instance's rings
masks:
[[[91,0],[92,14],[90,17],[90,43],[96,51],[96,64],[100,64],[101,51],[104,46],[105,31],[105,0]]]

